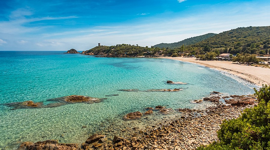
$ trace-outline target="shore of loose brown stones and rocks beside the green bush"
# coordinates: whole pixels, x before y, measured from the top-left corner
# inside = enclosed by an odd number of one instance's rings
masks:
[[[115,136],[96,133],[90,136],[81,145],[78,144],[61,144],[55,140],[52,143],[48,141],[22,143],[20,149],[111,149],[111,150],[129,150],[129,149],[196,149],[198,146],[205,146],[217,140],[217,130],[224,119],[237,118],[241,112],[248,107],[256,105],[256,99],[253,95],[231,95],[224,97],[219,92],[212,92],[211,96],[204,98],[202,101],[211,101],[215,104],[205,110],[190,109],[167,109],[157,106],[155,109],[148,107],[146,112],[129,113],[124,117],[151,115],[154,111],[162,113],[177,111],[181,115],[169,122],[161,122],[158,125],[147,126],[146,128],[121,128],[116,130],[123,134],[113,132]],[[129,120],[129,119],[127,119]],[[135,120],[136,121],[136,120]],[[138,122],[140,120],[137,120]],[[129,121],[127,121],[129,122]],[[113,127],[112,129],[117,128]]]

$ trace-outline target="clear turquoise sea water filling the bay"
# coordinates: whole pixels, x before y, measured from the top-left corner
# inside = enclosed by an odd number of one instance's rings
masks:
[[[0,51],[0,104],[44,102],[68,95],[108,98],[95,104],[68,104],[41,109],[0,105],[0,148],[16,149],[24,141],[57,139],[80,143],[113,125],[130,126],[126,113],[157,105],[200,108],[190,103],[211,91],[229,95],[253,93],[253,85],[196,64],[160,58],[95,58],[62,52]],[[187,82],[169,85],[167,80]],[[125,92],[118,89],[184,88],[179,92]],[[119,96],[105,97],[118,94]],[[149,118],[160,121],[163,115]],[[86,126],[86,128],[82,128]],[[113,131],[110,131],[113,132]]]

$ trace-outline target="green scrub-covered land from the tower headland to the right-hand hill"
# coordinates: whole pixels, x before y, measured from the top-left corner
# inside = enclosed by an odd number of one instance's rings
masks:
[[[157,44],[143,47],[131,44],[115,46],[96,46],[83,51],[85,55],[100,55],[100,57],[160,57],[160,56],[196,56],[200,60],[213,60],[222,53],[237,55],[234,62],[258,63],[256,56],[268,55],[270,52],[270,26],[239,27],[219,34],[188,38],[172,44]]]

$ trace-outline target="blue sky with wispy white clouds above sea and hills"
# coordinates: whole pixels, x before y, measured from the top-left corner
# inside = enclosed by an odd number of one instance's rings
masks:
[[[269,0],[2,0],[0,6],[0,50],[152,46],[270,26]]]

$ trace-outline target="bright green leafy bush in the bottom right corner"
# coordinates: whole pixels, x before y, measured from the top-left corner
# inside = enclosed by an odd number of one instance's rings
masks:
[[[198,150],[270,150],[270,86],[254,89],[258,106],[247,108],[238,119],[224,120],[215,142]]]

